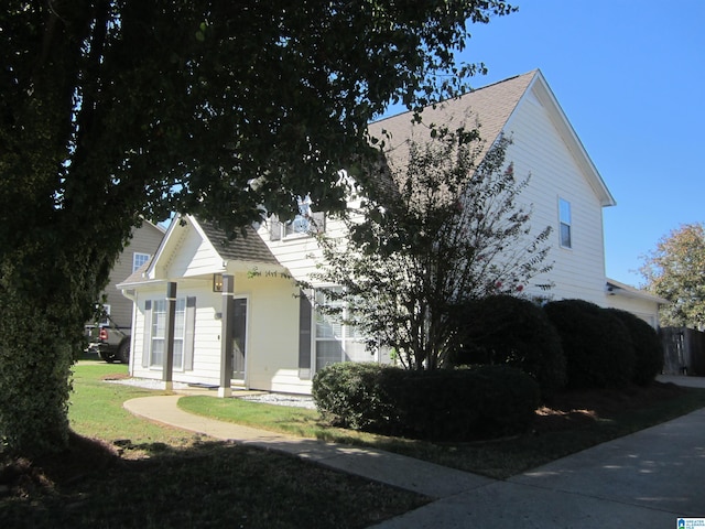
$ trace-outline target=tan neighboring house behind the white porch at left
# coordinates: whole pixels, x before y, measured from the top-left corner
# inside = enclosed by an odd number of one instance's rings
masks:
[[[145,264],[159,248],[165,229],[149,220],[132,228],[132,238],[110,271],[110,283],[106,287],[104,309],[113,323],[122,328],[132,327],[132,302],[121,294],[117,284]]]

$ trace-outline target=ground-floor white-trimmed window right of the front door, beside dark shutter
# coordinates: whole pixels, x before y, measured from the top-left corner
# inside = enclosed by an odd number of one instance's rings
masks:
[[[321,289],[315,293],[316,305],[326,304],[340,307],[338,315],[323,314],[315,311],[315,370],[338,361],[369,361],[365,342],[359,331],[352,325],[343,323],[347,317],[347,306],[344,301],[329,300],[326,291],[340,288]]]

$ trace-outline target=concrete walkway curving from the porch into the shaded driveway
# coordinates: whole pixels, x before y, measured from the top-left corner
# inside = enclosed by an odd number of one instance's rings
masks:
[[[674,377],[705,386],[705,380]],[[683,379],[683,380],[677,380]],[[193,415],[181,396],[127,401],[137,415],[223,440],[276,450],[435,499],[377,528],[670,528],[705,519],[705,409],[554,461],[508,481]]]

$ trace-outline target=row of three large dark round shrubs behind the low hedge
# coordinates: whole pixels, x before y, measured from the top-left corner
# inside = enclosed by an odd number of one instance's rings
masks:
[[[531,375],[543,397],[568,389],[646,386],[661,371],[657,332],[633,314],[582,300],[543,309],[508,295],[456,311],[455,365],[509,365]]]

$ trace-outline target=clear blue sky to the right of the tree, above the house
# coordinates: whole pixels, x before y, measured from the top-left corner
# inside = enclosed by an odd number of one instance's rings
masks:
[[[510,0],[473,25],[481,87],[540,68],[617,201],[604,209],[607,276],[639,285],[646,253],[705,222],[705,1]]]

